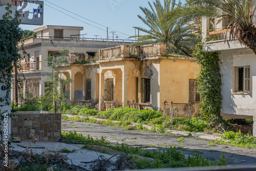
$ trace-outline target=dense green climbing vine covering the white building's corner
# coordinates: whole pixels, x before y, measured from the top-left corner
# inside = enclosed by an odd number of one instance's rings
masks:
[[[198,91],[201,94],[199,107],[207,121],[221,126],[220,124],[224,123],[224,120],[220,115],[222,83],[219,52],[207,52],[203,45],[204,43],[200,42],[193,53],[196,61],[201,65],[201,71],[197,78]]]

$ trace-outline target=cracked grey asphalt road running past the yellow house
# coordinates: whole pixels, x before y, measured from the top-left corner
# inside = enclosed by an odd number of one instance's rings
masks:
[[[74,126],[74,127],[73,127]],[[148,149],[166,150],[167,145],[182,147],[178,149],[182,154],[195,155],[196,151],[204,158],[218,161],[224,153],[229,165],[256,164],[256,149],[242,148],[231,145],[208,145],[209,140],[184,137],[184,142],[177,141],[181,135],[166,135],[156,132],[129,130],[122,127],[99,125],[96,123],[74,122],[62,120],[62,131],[76,131],[93,138],[105,137],[112,143],[126,143],[129,145],[146,145]]]

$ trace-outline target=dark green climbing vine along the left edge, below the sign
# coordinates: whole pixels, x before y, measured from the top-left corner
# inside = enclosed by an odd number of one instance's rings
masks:
[[[12,18],[11,5],[6,7],[6,14],[0,20],[0,71],[4,76],[0,82],[6,86],[6,95],[0,97],[0,108],[10,104],[11,78],[13,63],[18,62],[21,56],[18,54],[18,41],[22,37],[22,29],[19,28],[18,12]]]

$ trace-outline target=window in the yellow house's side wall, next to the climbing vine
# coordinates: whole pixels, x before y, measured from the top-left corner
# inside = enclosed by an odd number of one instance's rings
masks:
[[[198,83],[196,79],[189,79],[189,100],[188,102],[199,103],[201,101],[201,95],[197,89]]]

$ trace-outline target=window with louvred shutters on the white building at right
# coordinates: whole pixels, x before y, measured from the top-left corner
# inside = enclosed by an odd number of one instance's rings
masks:
[[[234,92],[250,92],[250,67],[234,68]]]

